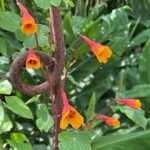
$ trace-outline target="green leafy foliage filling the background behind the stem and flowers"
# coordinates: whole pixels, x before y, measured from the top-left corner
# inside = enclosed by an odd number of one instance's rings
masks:
[[[20,2],[36,18],[39,46],[47,52],[50,33],[48,8],[50,4],[58,6],[61,1]],[[0,149],[50,149],[53,119],[47,93],[29,97],[13,89],[9,82],[10,64],[21,52],[36,47],[35,38],[21,33],[20,12],[14,0],[1,0],[0,6]],[[131,150],[141,150],[144,144],[144,150],[148,150],[150,1],[64,0],[61,6],[66,62],[77,49],[65,87],[70,102],[87,120],[96,111],[114,114],[122,125],[112,129],[96,121],[91,132],[77,132],[70,128],[59,136],[60,149],[124,150],[128,146]],[[99,64],[88,46],[82,43],[79,33],[109,45],[113,51],[110,61]],[[30,84],[44,80],[40,71],[24,71],[22,76]],[[114,97],[139,98],[143,110],[109,107]]]

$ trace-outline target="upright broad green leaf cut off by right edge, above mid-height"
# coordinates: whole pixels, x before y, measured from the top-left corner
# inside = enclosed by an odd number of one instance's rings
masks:
[[[140,54],[139,72],[142,84],[150,84],[150,40],[146,43],[142,53]]]

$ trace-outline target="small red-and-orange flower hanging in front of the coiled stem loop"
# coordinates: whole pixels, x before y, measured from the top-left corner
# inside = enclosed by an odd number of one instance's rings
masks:
[[[39,69],[40,67],[41,67],[40,59],[36,56],[33,49],[30,48],[26,59],[26,68]]]

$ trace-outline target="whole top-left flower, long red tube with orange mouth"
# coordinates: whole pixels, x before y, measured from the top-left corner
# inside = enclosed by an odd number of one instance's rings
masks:
[[[21,19],[21,30],[26,35],[34,34],[37,32],[37,24],[35,23],[34,18],[29,14],[28,10],[16,0],[17,5],[22,11],[22,19]]]

